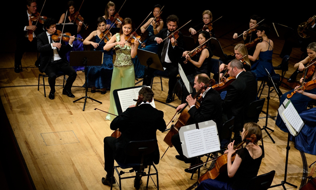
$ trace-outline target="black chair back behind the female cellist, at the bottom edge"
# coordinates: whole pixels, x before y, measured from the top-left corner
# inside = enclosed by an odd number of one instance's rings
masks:
[[[268,190],[273,182],[276,171],[256,176],[250,180],[246,190]]]

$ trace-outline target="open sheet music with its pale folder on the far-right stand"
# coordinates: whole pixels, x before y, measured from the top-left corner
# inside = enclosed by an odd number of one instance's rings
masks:
[[[297,136],[303,128],[304,122],[297,113],[292,102],[285,99],[282,105],[278,108],[278,111],[291,135]]]

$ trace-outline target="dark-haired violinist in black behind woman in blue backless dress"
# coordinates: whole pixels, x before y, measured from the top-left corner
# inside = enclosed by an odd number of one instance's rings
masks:
[[[259,21],[261,20],[261,18],[258,16],[258,15],[252,15],[252,16],[250,16],[250,21],[249,21],[249,29],[250,28],[252,28],[253,30],[249,30],[248,32],[246,32],[246,31],[243,31],[243,33],[242,33],[242,39],[243,39],[243,42],[244,42],[244,44],[247,44],[247,43],[249,43],[249,42],[251,42],[251,41],[253,41],[253,40],[255,40],[256,38],[257,38],[257,35],[256,35],[256,27],[257,26],[255,26]],[[255,27],[254,27],[255,26]],[[233,36],[233,38],[234,39],[237,39],[237,33],[235,33],[234,34],[234,36]],[[254,53],[254,51],[255,51],[255,48],[254,47],[252,47],[252,48],[249,48],[248,49],[248,53],[249,53],[249,55],[253,55],[253,53]]]

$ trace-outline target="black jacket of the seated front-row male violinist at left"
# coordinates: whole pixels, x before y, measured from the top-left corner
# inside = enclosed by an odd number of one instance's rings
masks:
[[[60,49],[57,48],[57,52],[59,56],[68,63],[66,59],[66,53],[70,51],[73,47],[68,45],[62,45]],[[51,45],[48,41],[46,32],[40,33],[38,36],[38,51],[40,52],[40,72],[45,72],[45,69],[49,62],[51,62],[51,58],[54,55],[54,50],[51,48]]]

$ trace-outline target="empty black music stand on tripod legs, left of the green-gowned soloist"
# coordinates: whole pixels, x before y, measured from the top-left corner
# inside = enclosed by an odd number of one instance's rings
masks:
[[[70,66],[84,66],[84,70],[87,70],[87,66],[101,66],[103,63],[103,52],[102,51],[70,51]],[[87,98],[94,100],[98,103],[102,103],[96,99],[87,96],[88,85],[87,85],[87,72],[84,72],[85,78],[85,96],[76,99],[74,102],[84,98],[83,109]]]

